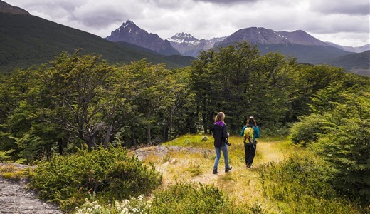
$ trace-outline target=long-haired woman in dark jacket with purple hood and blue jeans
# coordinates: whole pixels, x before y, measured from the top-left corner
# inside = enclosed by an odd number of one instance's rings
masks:
[[[231,166],[228,165],[228,145],[226,144],[226,139],[228,138],[228,127],[225,124],[225,114],[219,112],[215,117],[215,123],[213,125],[213,138],[214,146],[216,150],[215,164],[213,165],[213,174],[217,172],[218,161],[221,158],[221,151],[223,153],[223,158],[225,158],[225,173],[231,170]]]

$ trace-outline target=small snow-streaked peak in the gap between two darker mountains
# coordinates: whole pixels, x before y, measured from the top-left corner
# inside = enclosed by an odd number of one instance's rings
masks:
[[[221,38],[213,38],[213,39],[196,39],[191,34],[186,34],[184,32],[177,33],[171,38],[167,39],[171,45],[177,49],[181,54],[185,56],[198,56],[200,51],[208,51],[211,49],[213,45],[225,39],[225,37]]]

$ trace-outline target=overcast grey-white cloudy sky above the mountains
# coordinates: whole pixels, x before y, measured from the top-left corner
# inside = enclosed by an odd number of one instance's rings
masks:
[[[342,46],[370,44],[370,3],[342,1],[5,0],[32,15],[103,38],[127,19],[162,39],[185,32],[197,39],[229,36],[251,26],[303,30]]]

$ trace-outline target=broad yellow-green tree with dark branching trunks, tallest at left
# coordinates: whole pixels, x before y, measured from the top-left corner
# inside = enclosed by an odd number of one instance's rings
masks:
[[[68,133],[75,133],[88,148],[107,147],[115,113],[122,104],[113,91],[113,66],[100,56],[60,54],[42,76],[49,117]],[[98,142],[97,142],[98,141]]]

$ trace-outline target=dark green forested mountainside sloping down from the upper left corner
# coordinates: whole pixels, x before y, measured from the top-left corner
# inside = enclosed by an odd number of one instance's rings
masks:
[[[62,51],[97,54],[109,63],[129,63],[146,58],[166,63],[168,68],[189,66],[191,56],[164,56],[141,46],[107,41],[100,36],[32,16],[27,11],[0,1],[0,72],[53,61]]]

